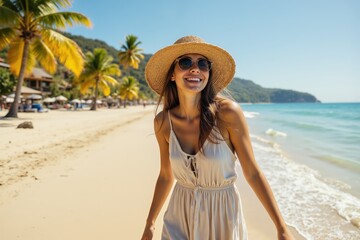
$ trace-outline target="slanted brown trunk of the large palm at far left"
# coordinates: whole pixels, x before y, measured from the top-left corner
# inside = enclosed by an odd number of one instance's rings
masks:
[[[22,87],[22,84],[24,82],[26,61],[27,61],[27,58],[28,58],[28,55],[29,55],[29,46],[30,46],[30,41],[25,40],[24,49],[23,49],[23,56],[22,56],[22,59],[21,59],[21,68],[20,68],[20,73],[19,73],[19,79],[18,79],[18,82],[16,84],[14,102],[11,104],[10,110],[5,116],[6,118],[7,117],[13,117],[13,118],[18,117],[17,116],[18,105],[19,105],[19,99],[20,99],[20,95],[21,95],[21,87]]]

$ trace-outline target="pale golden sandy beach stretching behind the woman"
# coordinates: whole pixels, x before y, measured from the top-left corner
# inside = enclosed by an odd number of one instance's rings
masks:
[[[1,119],[0,239],[140,239],[159,171],[153,117],[141,106]],[[34,129],[16,129],[24,121]],[[277,239],[238,173],[249,239]]]

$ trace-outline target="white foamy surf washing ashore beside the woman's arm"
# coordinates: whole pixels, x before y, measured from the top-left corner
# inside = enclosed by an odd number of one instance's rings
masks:
[[[252,136],[257,161],[286,222],[306,239],[360,239],[360,199],[329,184],[317,171],[286,158],[281,148]],[[337,188],[340,185],[342,187]]]

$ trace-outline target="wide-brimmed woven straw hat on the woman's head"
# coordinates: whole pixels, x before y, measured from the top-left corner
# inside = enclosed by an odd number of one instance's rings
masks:
[[[212,81],[216,92],[224,89],[235,74],[235,61],[222,48],[206,43],[199,37],[186,36],[173,45],[157,51],[148,61],[145,78],[149,86],[161,94],[166,83],[166,75],[176,58],[185,54],[200,54],[212,62]]]

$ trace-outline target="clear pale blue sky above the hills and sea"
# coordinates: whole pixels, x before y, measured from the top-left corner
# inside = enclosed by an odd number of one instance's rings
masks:
[[[323,102],[360,102],[358,0],[74,0],[70,11],[93,28],[69,32],[117,49],[128,34],[145,53],[197,35],[230,52],[236,77]]]

